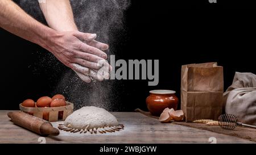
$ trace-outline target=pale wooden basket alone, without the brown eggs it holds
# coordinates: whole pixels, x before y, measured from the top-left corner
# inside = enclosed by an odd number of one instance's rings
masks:
[[[67,106],[63,107],[24,107],[22,103],[19,104],[19,109],[23,112],[33,113],[37,118],[43,119],[43,112],[49,112],[49,122],[58,121],[58,115],[60,111],[63,111],[63,118],[65,120],[68,115],[71,115],[74,109],[74,104],[67,102]]]

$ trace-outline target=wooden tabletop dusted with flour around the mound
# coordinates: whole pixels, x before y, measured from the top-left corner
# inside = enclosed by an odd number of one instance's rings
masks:
[[[9,111],[0,111],[0,143],[40,143],[39,135],[21,128],[7,116]],[[124,124],[119,132],[90,135],[89,133],[69,133],[60,131],[59,136],[46,137],[46,143],[210,143],[215,137],[217,143],[253,143],[233,136],[189,128],[174,123],[160,123],[139,112],[113,112]],[[53,122],[53,127],[61,122]]]

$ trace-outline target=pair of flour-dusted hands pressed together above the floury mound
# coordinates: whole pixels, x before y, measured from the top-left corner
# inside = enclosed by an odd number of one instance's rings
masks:
[[[77,75],[85,82],[90,82],[90,77],[102,81],[109,77],[111,66],[105,70],[105,75],[97,74],[97,70],[102,67],[107,55],[105,51],[109,47],[107,44],[96,40],[96,34],[82,33],[79,31],[59,32],[51,36],[47,41],[46,48],[64,65],[73,69]],[[105,66],[106,67],[106,66]]]

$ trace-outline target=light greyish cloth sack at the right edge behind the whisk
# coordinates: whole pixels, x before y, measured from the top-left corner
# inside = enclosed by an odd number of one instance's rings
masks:
[[[226,114],[239,122],[256,125],[256,75],[236,72],[233,84],[224,93]]]

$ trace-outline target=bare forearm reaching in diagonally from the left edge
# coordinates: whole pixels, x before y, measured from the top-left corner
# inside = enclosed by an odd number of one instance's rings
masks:
[[[55,30],[44,26],[10,0],[0,1],[0,27],[44,48],[47,40],[57,35]]]

